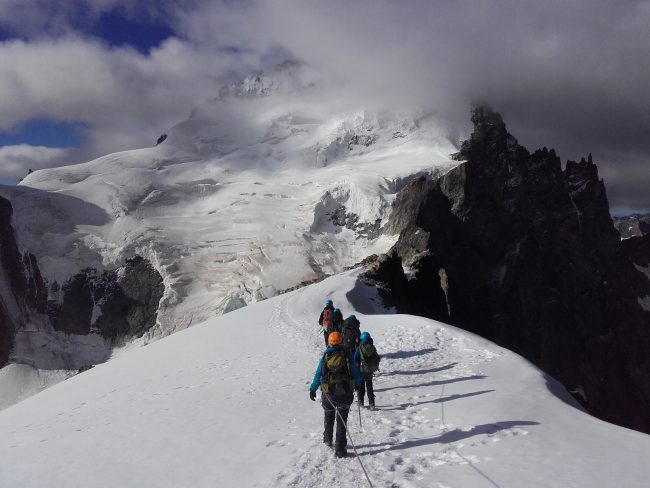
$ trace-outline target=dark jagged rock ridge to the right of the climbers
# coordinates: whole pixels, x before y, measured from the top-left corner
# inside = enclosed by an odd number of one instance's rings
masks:
[[[466,162],[395,201],[387,231],[400,234],[408,284],[395,257],[367,278],[446,298],[426,315],[448,314],[538,364],[593,414],[650,432],[650,313],[638,302],[649,281],[621,246],[591,156],[562,171],[553,150],[530,154],[488,107],[472,121]]]

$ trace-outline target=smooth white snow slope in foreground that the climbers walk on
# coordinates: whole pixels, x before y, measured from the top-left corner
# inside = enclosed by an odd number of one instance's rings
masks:
[[[242,308],[0,412],[3,486],[361,487],[308,398],[331,297],[383,354],[350,432],[375,487],[645,487],[650,436],[597,420],[516,354],[380,314],[358,271]],[[350,449],[352,451],[352,449]]]

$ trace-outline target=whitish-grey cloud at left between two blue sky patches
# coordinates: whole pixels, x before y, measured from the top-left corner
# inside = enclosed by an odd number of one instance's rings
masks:
[[[70,36],[7,41],[0,59],[9,61],[0,63],[0,130],[35,118],[81,122],[95,155],[153,144],[216,96],[232,65],[178,39],[143,55]]]

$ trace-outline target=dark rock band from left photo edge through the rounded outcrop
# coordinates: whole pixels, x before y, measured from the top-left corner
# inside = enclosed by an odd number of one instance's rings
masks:
[[[151,263],[135,256],[116,270],[83,270],[63,285],[52,283],[48,300],[36,257],[18,249],[11,217],[10,202],[0,197],[0,367],[16,330],[35,314],[49,316],[55,330],[97,333],[113,343],[155,325],[164,284]]]

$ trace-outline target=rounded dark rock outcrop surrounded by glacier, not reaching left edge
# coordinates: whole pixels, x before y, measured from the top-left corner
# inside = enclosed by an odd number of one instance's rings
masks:
[[[50,301],[48,313],[54,328],[68,334],[138,337],[155,325],[163,292],[160,274],[135,256],[117,270],[76,274],[61,287],[62,301]]]

